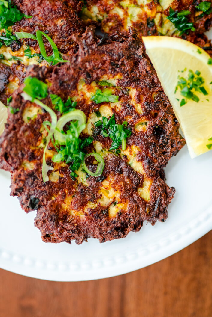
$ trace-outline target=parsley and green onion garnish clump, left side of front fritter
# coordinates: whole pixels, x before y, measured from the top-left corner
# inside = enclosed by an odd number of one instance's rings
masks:
[[[51,122],[49,121],[43,122],[43,126],[48,132],[48,136],[45,140],[46,145],[44,148],[43,166],[42,166],[42,175],[43,175],[44,182],[49,180],[47,172],[53,169],[51,166],[47,165],[45,161],[45,152],[47,150],[47,146],[50,139],[56,151],[58,152],[58,154],[53,156],[52,161],[56,163],[65,161],[65,163],[69,165],[71,178],[75,180],[75,178],[77,177],[77,174],[75,173],[75,171],[79,169],[86,155],[86,153],[84,152],[84,148],[88,146],[89,144],[91,144],[93,140],[91,136],[85,139],[79,138],[81,131],[85,128],[85,122],[86,122],[85,114],[81,110],[74,109],[73,111],[70,111],[69,113],[63,114],[60,117],[60,119],[57,121],[57,116],[54,113],[54,111],[51,108],[47,107],[44,103],[39,101],[47,97],[48,86],[44,82],[38,80],[36,77],[31,77],[31,76],[25,78],[24,84],[25,84],[25,87],[23,88],[24,93],[22,94],[24,99],[30,100],[31,102],[35,102],[40,107],[43,107],[44,110],[46,110],[51,116]],[[61,103],[62,100],[57,95],[51,95],[51,100],[53,100],[53,104],[55,104],[55,106],[58,106],[58,103],[59,103],[60,107],[62,107],[61,108],[62,111],[64,109],[67,110],[66,108],[70,107],[73,104],[70,98],[66,101],[66,103],[63,103],[63,102]],[[68,102],[68,106],[66,106],[67,102]],[[16,111],[17,110],[18,109],[16,109]],[[68,116],[68,119],[67,119],[67,116]],[[80,116],[81,116],[81,122],[80,122]],[[33,120],[33,118],[31,118],[31,120]],[[76,118],[79,118],[79,119],[76,120]],[[59,122],[60,123],[62,122],[62,126],[59,125]],[[70,123],[68,124],[68,122]],[[50,129],[48,126],[50,126]],[[63,131],[63,128],[65,128],[66,132]]]

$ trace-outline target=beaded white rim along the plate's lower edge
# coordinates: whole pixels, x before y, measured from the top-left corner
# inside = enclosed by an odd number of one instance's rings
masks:
[[[76,264],[58,262],[50,265],[0,249],[0,268],[47,281],[91,281],[123,275],[173,255],[212,230],[212,204],[210,203],[202,212],[204,215],[201,218],[196,216],[182,228],[174,231],[174,234],[171,233],[165,239],[161,238],[157,243],[148,245],[146,249],[128,252],[121,258],[106,258],[102,262],[92,261],[92,265],[89,262],[83,263],[80,269]],[[145,256],[145,261],[142,256]]]

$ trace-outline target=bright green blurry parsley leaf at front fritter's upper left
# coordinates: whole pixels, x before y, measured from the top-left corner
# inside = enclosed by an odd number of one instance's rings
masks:
[[[44,99],[48,95],[48,86],[36,77],[26,77],[24,79],[25,87],[23,91],[30,95],[33,99]]]

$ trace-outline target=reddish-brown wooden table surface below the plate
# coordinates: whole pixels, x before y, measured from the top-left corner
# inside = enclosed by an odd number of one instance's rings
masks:
[[[1,317],[212,317],[212,231],[122,276],[49,282],[0,270]]]

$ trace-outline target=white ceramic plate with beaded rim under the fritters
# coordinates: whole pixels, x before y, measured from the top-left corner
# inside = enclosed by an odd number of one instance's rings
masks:
[[[36,212],[21,210],[17,197],[10,197],[9,173],[0,170],[0,267],[44,280],[85,281],[160,261],[212,229],[211,176],[212,152],[192,160],[185,146],[166,167],[167,184],[176,193],[165,223],[144,223],[125,239],[103,244],[89,239],[78,246],[42,242],[33,225]]]

